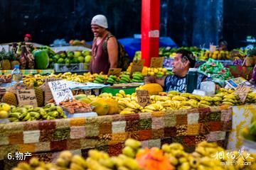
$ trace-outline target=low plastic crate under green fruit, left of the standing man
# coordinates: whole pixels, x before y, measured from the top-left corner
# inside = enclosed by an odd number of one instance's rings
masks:
[[[55,72],[88,72],[88,63],[54,64]]]

